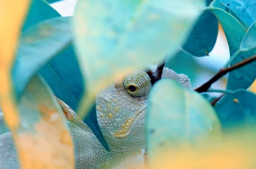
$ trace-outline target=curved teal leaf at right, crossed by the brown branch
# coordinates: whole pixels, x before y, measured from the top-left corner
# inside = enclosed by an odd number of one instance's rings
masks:
[[[208,7],[208,10],[212,11],[216,15],[218,21],[220,22],[223,28],[229,45],[230,56],[232,56],[236,52],[239,52],[238,50],[242,41],[242,37],[244,37],[244,34],[246,32],[244,27],[239,23],[238,20],[236,20],[235,17],[233,17],[231,14],[227,13],[226,11],[220,8]],[[235,63],[238,63],[251,55],[252,53],[250,52],[240,53],[239,57],[236,57],[236,59],[234,59],[230,65],[234,65]],[[248,72],[248,70],[252,71],[252,68],[248,68],[246,66],[230,72],[228,74],[228,82],[226,89],[236,90],[239,88],[249,87],[250,80],[251,78],[253,78],[252,74],[254,73],[252,72],[251,74],[245,76],[246,73],[244,72]],[[217,104],[224,104],[225,102],[232,99],[234,99],[233,96],[226,94],[220,101],[217,102]]]

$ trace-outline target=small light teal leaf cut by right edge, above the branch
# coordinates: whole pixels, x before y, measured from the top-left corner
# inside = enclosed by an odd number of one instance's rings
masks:
[[[247,30],[240,45],[241,51],[249,51],[256,48],[256,22]]]

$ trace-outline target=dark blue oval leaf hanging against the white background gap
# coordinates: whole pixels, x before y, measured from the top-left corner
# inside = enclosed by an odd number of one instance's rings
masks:
[[[217,34],[217,18],[211,11],[204,11],[183,44],[183,49],[194,56],[206,56],[212,51]]]

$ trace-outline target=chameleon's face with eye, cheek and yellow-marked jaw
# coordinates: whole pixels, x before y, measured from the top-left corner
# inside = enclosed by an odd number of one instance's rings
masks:
[[[147,73],[138,71],[111,85],[96,97],[99,126],[107,139],[125,141],[145,133],[145,108],[151,90]],[[136,136],[135,136],[136,138]]]

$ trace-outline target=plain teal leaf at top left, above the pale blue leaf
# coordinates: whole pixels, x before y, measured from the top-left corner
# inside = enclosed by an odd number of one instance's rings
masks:
[[[32,0],[22,31],[32,25],[40,23],[43,20],[60,16],[61,15],[44,0]]]

